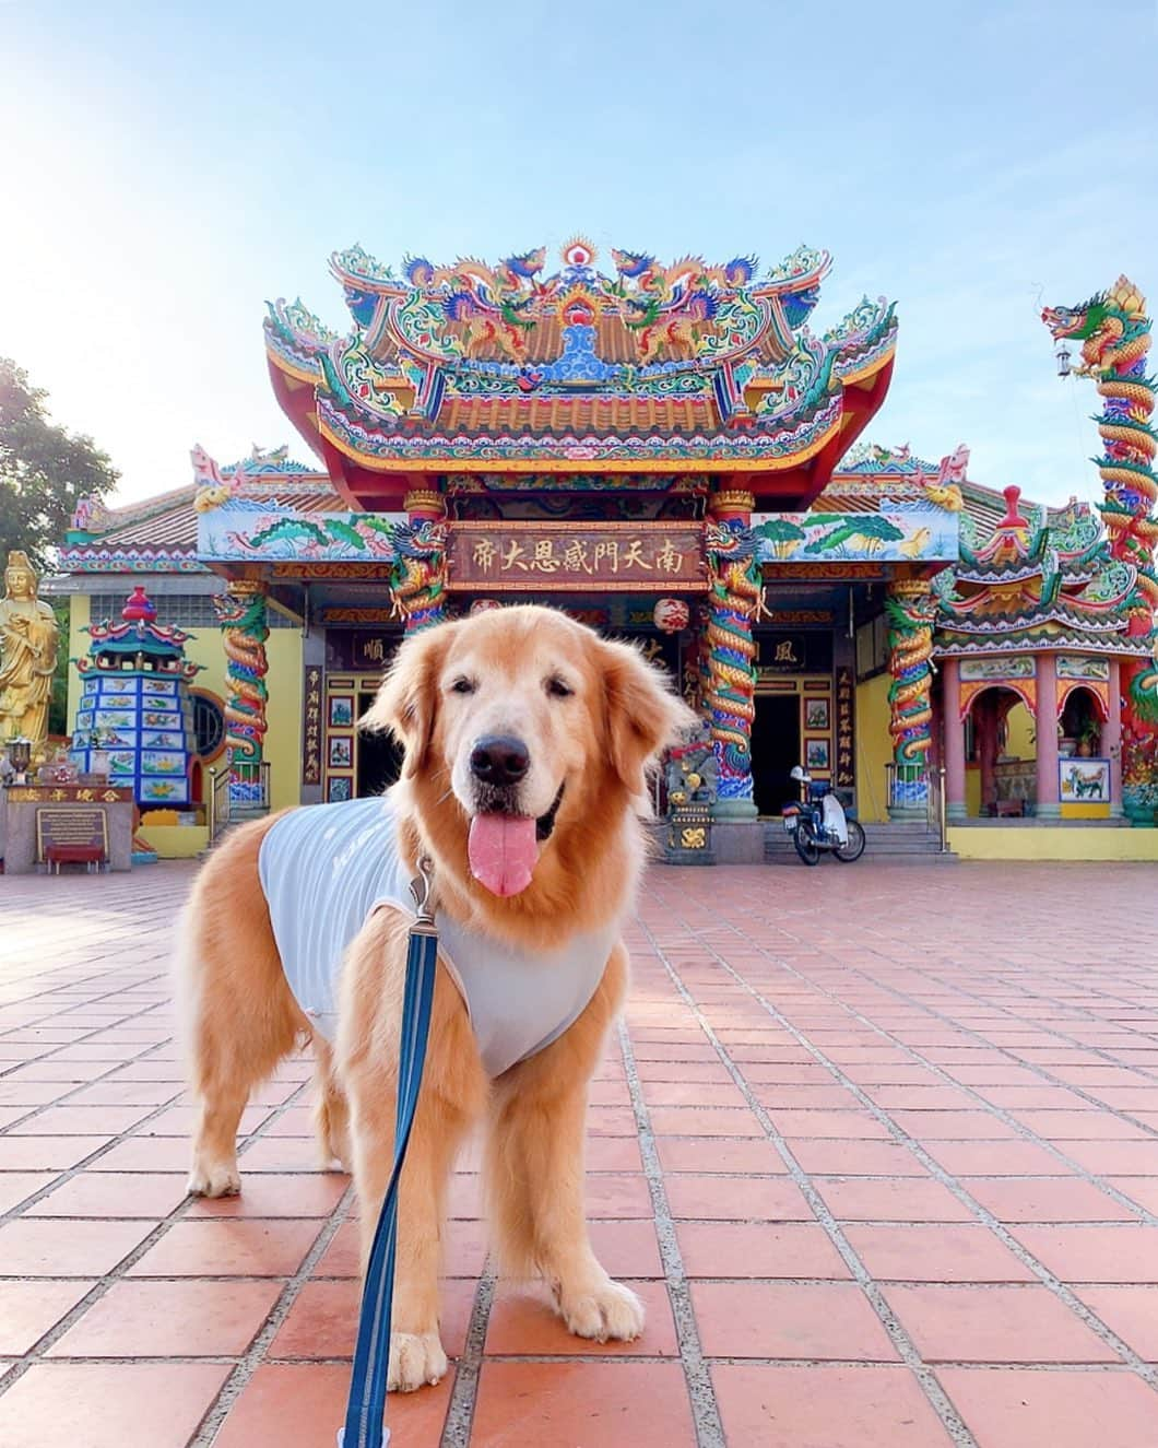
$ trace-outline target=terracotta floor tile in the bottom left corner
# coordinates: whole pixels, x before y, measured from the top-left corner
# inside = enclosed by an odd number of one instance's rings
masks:
[[[0,1397],[4,1448],[185,1448],[229,1368],[43,1363]]]

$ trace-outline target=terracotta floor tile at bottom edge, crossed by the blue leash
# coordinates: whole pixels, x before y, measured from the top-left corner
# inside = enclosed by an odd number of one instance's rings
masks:
[[[347,1367],[262,1365],[230,1409],[213,1448],[333,1448],[349,1386]],[[439,1448],[453,1386],[452,1368],[437,1387],[392,1393],[386,1402],[391,1442],[398,1448]]]

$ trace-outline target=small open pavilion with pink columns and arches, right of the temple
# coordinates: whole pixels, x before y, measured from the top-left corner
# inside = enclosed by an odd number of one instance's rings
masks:
[[[983,812],[1051,820],[1064,804],[1087,804],[1120,817],[1122,668],[1149,654],[1129,630],[1145,607],[1138,568],[1112,556],[1089,505],[1023,508],[1016,487],[1005,500],[984,543],[964,518],[961,563],[934,581],[948,817],[965,815],[967,721]],[[1036,738],[1036,759],[1020,770],[999,762],[1018,701]]]

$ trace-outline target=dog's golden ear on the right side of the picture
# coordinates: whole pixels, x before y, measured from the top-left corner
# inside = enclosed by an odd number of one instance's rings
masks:
[[[631,794],[638,795],[647,788],[648,767],[695,715],[638,649],[609,639],[599,640],[598,649],[611,763]]]

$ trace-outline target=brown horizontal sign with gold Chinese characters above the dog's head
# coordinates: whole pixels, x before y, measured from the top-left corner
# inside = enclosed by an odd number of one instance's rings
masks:
[[[696,523],[452,524],[449,588],[689,592],[708,586]]]

